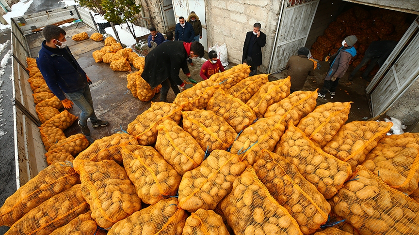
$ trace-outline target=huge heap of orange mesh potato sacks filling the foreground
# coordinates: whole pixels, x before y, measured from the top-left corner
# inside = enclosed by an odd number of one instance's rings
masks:
[[[0,208],[6,235],[419,235],[418,133],[345,124],[350,102],[316,108],[316,91],[249,72],[217,73],[61,154]]]

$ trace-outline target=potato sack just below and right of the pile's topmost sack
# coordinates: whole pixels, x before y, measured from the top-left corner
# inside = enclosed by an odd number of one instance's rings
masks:
[[[258,92],[259,88],[267,82],[269,82],[268,74],[258,74],[244,78],[242,81],[229,88],[227,93],[246,103],[254,94],[256,94],[256,92]]]

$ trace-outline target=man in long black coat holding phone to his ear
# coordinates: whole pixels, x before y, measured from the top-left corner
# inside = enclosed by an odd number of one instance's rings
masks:
[[[250,74],[253,76],[258,72],[258,66],[262,64],[262,47],[266,44],[266,34],[260,31],[260,23],[253,25],[253,31],[246,33],[243,45],[242,63],[245,61],[250,65]]]

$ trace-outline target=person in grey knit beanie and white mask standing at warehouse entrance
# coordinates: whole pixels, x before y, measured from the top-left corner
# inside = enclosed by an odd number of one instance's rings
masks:
[[[339,48],[335,55],[330,57],[332,63],[324,78],[323,88],[319,92],[319,97],[326,97],[327,91],[329,91],[330,95],[335,95],[339,79],[345,75],[349,62],[356,56],[354,47],[356,41],[358,41],[358,38],[356,38],[355,35],[346,37],[345,40],[342,41],[342,47]]]

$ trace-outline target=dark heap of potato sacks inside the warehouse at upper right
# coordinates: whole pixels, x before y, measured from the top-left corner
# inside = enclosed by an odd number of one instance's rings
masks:
[[[410,19],[407,13],[383,8],[367,11],[355,6],[338,15],[329,24],[323,35],[318,37],[311,46],[310,52],[314,59],[322,61],[326,56],[338,52],[345,37],[355,35],[358,38],[358,42],[354,45],[357,55],[350,62],[355,68],[361,62],[371,42],[400,41],[412,21],[413,19]],[[367,65],[363,66],[360,71],[364,71],[366,67]],[[369,75],[375,75],[378,69],[379,67],[376,65]]]

